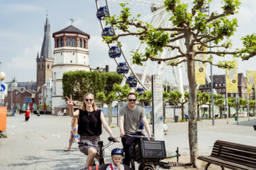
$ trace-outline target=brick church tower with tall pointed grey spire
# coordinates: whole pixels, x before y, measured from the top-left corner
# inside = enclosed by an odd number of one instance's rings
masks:
[[[48,18],[46,18],[45,34],[43,36],[40,56],[37,53],[37,90],[47,82],[47,78],[52,78],[52,65],[54,65],[54,59],[51,53],[50,25]]]

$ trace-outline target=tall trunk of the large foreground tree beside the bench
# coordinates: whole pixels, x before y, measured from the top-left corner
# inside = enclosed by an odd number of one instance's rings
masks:
[[[187,49],[189,47],[190,46],[188,46]],[[189,56],[187,57],[187,60],[189,82],[188,139],[190,144],[190,163],[193,165],[193,167],[200,168],[200,164],[196,159],[198,157],[198,138],[196,121],[196,75],[194,72],[194,61],[190,60]]]

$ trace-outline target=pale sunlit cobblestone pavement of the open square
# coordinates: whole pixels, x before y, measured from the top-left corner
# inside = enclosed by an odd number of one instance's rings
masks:
[[[108,119],[108,118],[106,118]],[[24,121],[24,115],[7,117],[7,136],[0,138],[0,169],[82,169],[86,156],[72,144],[70,152],[64,152],[68,147],[70,136],[70,117],[52,115],[31,115],[29,121]],[[113,118],[116,126],[116,118]],[[240,144],[256,146],[256,117],[239,118],[236,125],[234,118],[217,119],[215,125],[211,120],[198,121],[199,154],[209,154],[215,140],[226,140]],[[189,154],[188,122],[169,122],[169,133],[165,136],[167,154],[172,154],[179,147],[181,154]],[[112,128],[119,136],[119,128]],[[106,143],[108,134],[102,134]],[[107,161],[110,162],[110,150],[122,147],[121,142],[106,148]],[[181,156],[182,157],[182,156]]]

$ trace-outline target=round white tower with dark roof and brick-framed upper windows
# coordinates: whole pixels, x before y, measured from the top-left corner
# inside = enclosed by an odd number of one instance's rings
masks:
[[[62,99],[62,76],[64,72],[75,70],[90,71],[89,68],[89,34],[70,25],[53,34],[54,65],[52,88],[52,113],[54,107],[66,104]]]

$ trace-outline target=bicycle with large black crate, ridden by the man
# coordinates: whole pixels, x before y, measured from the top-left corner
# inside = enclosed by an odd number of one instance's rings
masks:
[[[165,150],[165,142],[157,140],[143,140],[149,139],[149,136],[137,136],[125,134],[125,136],[135,137],[138,140],[133,141],[132,145],[132,159],[131,169],[135,170],[135,162],[139,164],[139,170],[155,170],[159,167],[175,167],[177,163],[170,163],[169,161],[162,161],[163,159],[177,157],[179,161],[179,149],[177,148],[176,154],[167,157]]]

